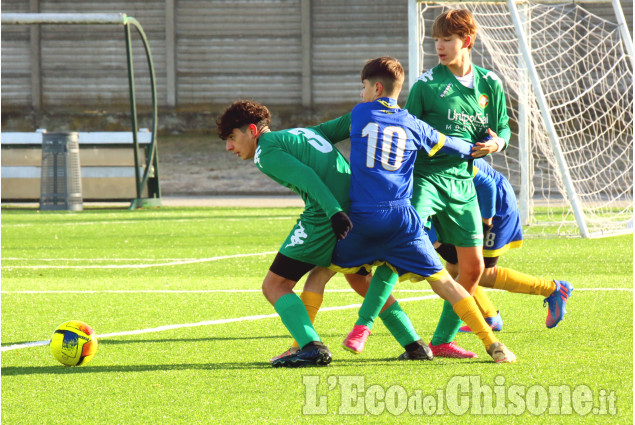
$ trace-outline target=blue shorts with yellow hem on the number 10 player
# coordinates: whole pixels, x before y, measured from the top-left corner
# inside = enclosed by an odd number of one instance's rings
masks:
[[[353,206],[349,216],[353,229],[335,245],[333,270],[355,273],[386,263],[400,280],[439,280],[447,275],[409,200],[385,208]]]

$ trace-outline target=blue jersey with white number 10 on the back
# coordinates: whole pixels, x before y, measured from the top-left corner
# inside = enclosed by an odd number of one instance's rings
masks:
[[[351,114],[351,207],[410,199],[418,150],[469,159],[471,148],[399,108],[395,99],[360,103]]]

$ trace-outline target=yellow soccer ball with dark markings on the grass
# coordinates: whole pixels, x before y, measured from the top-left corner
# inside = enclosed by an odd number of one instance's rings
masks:
[[[97,337],[84,322],[69,320],[55,329],[51,337],[51,353],[66,366],[86,364],[97,352]]]

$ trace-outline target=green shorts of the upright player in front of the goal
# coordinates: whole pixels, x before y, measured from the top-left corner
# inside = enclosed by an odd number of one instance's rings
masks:
[[[424,223],[432,219],[440,242],[459,247],[483,245],[481,212],[471,179],[415,177],[412,205]]]

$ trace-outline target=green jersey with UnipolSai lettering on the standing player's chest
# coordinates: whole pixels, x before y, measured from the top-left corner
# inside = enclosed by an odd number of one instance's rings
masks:
[[[505,94],[500,79],[486,69],[472,65],[474,88],[461,84],[448,67],[437,65],[425,72],[410,89],[405,109],[448,136],[476,143],[490,128],[509,143],[511,131]],[[472,178],[472,161],[439,153],[419,155],[414,175],[441,173],[459,179]]]

